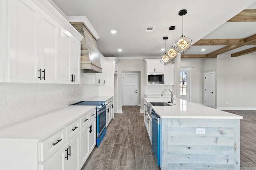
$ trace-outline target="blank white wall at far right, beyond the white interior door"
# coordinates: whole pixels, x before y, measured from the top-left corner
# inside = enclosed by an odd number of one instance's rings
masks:
[[[255,54],[217,56],[217,109],[256,109],[255,64]]]

